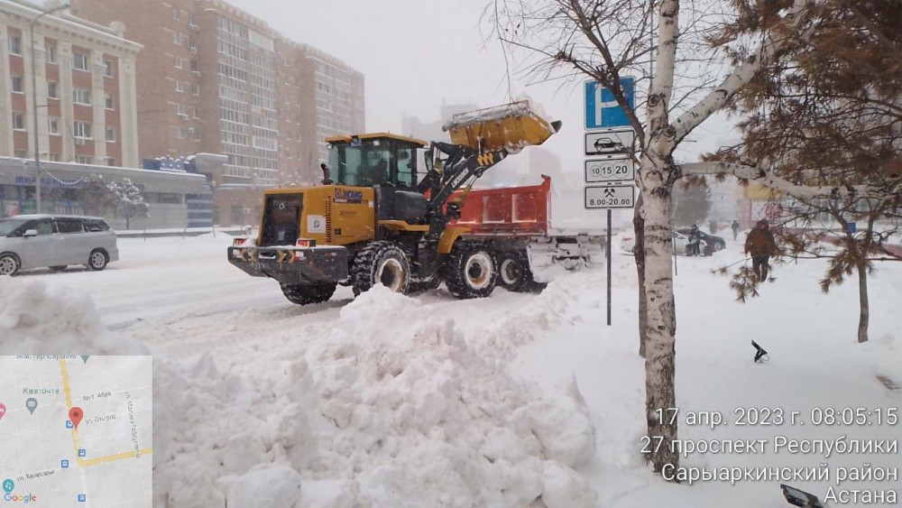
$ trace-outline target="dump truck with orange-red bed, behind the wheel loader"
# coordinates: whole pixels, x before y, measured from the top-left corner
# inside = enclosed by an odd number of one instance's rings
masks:
[[[557,218],[557,201],[563,199],[566,195],[554,192],[544,175],[538,185],[458,191],[450,201],[462,202],[460,218],[450,226],[464,227],[465,237],[487,245],[503,287],[531,291],[559,273],[604,261],[601,221],[593,220],[594,225],[584,214]],[[577,215],[581,223],[573,220]]]

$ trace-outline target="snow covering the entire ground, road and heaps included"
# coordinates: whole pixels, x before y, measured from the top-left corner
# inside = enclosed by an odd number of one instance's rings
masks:
[[[540,295],[498,290],[487,300],[458,301],[442,290],[353,300],[339,288],[331,301],[302,308],[275,282],[226,263],[229,241],[121,239],[123,261],[106,272],[37,271],[0,281],[0,336],[13,338],[0,342],[0,353],[146,346],[155,355],[160,506],[224,506],[226,498],[230,508],[297,499],[297,506],[524,506],[538,497],[536,506],[786,505],[780,482],[672,485],[643,465],[630,256],[614,257],[609,328],[603,272],[568,275]],[[728,279],[711,273],[741,257],[731,243],[713,258],[677,260],[682,411],[722,411],[733,420],[737,408],[807,416],[815,407],[902,405],[902,393],[877,379],[902,383],[902,266],[881,264],[872,277],[872,341],[860,346],[857,283],[824,295],[817,284],[824,263],[787,264],[762,298],[741,304]],[[100,319],[78,296],[86,293]],[[27,342],[49,331],[55,338]],[[769,350],[768,363],[752,363],[751,339]],[[899,429],[682,425],[680,437],[897,439]],[[768,449],[683,462],[888,466],[898,456]],[[787,483],[822,497],[833,485]],[[862,487],[898,489],[842,485]]]

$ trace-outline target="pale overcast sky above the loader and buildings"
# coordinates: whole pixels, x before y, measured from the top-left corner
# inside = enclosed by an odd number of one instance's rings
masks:
[[[509,102],[504,54],[497,41],[485,41],[481,23],[490,0],[230,0],[297,42],[344,60],[364,73],[366,128],[399,132],[401,117],[438,119],[443,101],[494,106]],[[516,77],[514,77],[516,80]],[[566,168],[581,171],[583,99],[581,88],[560,83],[524,87],[564,129],[546,148]],[[638,105],[637,105],[638,106]],[[723,121],[695,133],[681,158],[711,151],[729,138]],[[401,133],[406,134],[406,133]]]

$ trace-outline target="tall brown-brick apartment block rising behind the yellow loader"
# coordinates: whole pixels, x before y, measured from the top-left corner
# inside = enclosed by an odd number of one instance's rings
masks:
[[[216,187],[311,181],[327,135],[364,130],[364,78],[220,0],[73,0],[138,57],[141,158],[222,153]]]

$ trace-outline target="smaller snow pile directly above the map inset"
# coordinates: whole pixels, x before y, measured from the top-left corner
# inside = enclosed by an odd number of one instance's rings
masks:
[[[110,334],[91,299],[44,282],[0,277],[0,355],[147,355]]]

